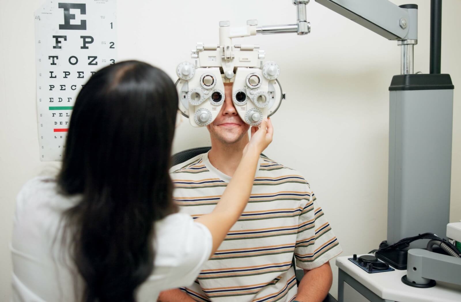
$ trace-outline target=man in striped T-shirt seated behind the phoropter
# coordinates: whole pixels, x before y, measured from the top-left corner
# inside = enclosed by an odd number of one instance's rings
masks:
[[[224,105],[207,126],[212,149],[172,169],[174,199],[194,218],[219,202],[249,141],[231,93],[225,83]],[[306,180],[261,156],[248,205],[225,241],[193,285],[164,291],[159,301],[322,301],[332,282],[328,261],[341,252]],[[299,288],[293,253],[305,273]]]

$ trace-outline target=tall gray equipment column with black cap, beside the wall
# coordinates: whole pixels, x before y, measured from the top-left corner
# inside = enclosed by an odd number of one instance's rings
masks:
[[[387,242],[449,223],[453,89],[447,74],[394,76],[390,90]],[[412,248],[426,247],[418,240]]]

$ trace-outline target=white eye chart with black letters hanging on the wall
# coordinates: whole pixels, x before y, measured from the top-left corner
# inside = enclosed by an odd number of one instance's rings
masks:
[[[116,8],[116,0],[47,0],[35,11],[41,161],[62,160],[78,92],[117,62]]]

